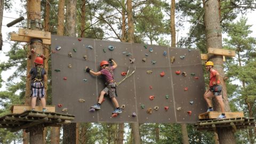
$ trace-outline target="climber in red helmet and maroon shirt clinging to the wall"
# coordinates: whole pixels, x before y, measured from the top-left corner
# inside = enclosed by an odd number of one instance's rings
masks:
[[[102,75],[105,78],[106,87],[100,92],[100,98],[97,104],[92,106],[91,108],[100,109],[100,105],[103,101],[103,97],[105,94],[109,95],[109,98],[114,102],[116,109],[112,112],[113,114],[122,113],[122,110],[119,108],[118,102],[116,100],[116,82],[114,80],[113,70],[117,67],[116,62],[113,59],[109,59],[113,63],[113,66],[109,67],[108,61],[101,61],[100,67],[101,70],[98,72],[92,71],[89,67],[85,67],[87,73],[90,73],[94,76]]]

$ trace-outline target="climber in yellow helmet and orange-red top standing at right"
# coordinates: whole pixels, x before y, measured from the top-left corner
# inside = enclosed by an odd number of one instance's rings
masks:
[[[219,102],[221,113],[218,118],[226,118],[225,116],[225,107],[224,102],[222,100],[222,86],[220,85],[220,74],[217,70],[213,69],[213,62],[207,61],[205,63],[206,71],[209,71],[210,73],[210,84],[209,88],[204,93],[204,99],[206,100],[209,108],[207,111],[213,111],[212,108],[212,97],[215,97],[216,100]]]

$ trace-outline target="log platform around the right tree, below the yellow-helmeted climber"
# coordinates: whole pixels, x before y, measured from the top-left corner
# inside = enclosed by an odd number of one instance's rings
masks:
[[[197,130],[215,131],[218,128],[232,127],[235,132],[238,129],[247,129],[248,126],[255,126],[254,118],[237,117],[225,119],[209,119],[207,121],[198,121],[194,125]]]

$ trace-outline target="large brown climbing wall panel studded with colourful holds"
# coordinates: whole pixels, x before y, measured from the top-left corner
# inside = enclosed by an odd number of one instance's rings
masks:
[[[52,101],[74,122],[195,123],[206,109],[204,77],[197,50],[100,41],[52,35]],[[101,109],[89,111],[105,87],[102,60],[113,58],[117,100],[123,113],[112,117],[113,103],[105,97]],[[126,75],[125,75],[126,74]]]

